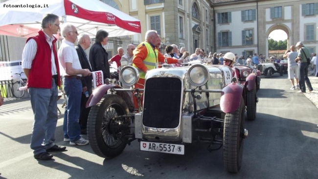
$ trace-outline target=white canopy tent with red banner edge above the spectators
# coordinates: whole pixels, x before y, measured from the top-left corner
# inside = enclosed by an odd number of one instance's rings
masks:
[[[53,13],[94,38],[99,29],[109,37],[141,33],[140,21],[99,0],[8,0],[0,3],[0,35],[30,37],[43,15]]]

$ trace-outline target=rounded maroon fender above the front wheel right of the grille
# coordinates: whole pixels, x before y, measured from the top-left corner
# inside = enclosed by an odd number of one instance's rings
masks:
[[[243,90],[244,87],[239,83],[228,84],[222,90],[220,100],[221,110],[225,113],[234,112],[240,106]]]

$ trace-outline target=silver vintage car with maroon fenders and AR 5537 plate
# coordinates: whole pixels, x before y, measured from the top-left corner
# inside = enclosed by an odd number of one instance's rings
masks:
[[[87,131],[92,150],[112,158],[137,139],[141,151],[184,155],[187,145],[204,142],[209,152],[223,147],[225,169],[237,173],[248,136],[245,110],[249,120],[256,117],[258,78],[250,67],[235,68],[241,74],[239,83],[232,68],[221,65],[152,69],[144,89],[135,89],[138,70],[123,67],[119,78],[132,88],[99,86],[86,105],[91,107]],[[143,97],[139,112],[127,91]]]

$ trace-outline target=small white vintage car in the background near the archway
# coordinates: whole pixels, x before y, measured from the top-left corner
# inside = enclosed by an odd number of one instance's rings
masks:
[[[258,64],[257,69],[260,71],[261,75],[265,76],[265,78],[271,78],[274,73],[279,73],[280,76],[283,76],[284,74],[284,66],[278,63]]]

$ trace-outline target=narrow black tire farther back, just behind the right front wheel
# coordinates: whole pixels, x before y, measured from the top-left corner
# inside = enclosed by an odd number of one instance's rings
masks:
[[[250,90],[246,95],[246,113],[249,121],[253,121],[256,118],[256,84],[254,90]]]

